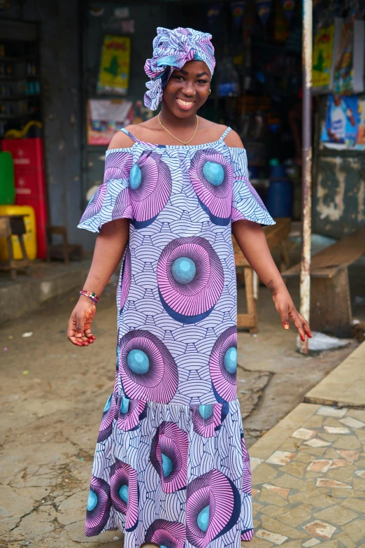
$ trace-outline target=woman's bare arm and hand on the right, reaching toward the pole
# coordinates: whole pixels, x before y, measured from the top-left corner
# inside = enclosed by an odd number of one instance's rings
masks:
[[[232,232],[243,255],[257,272],[259,279],[273,295],[275,308],[281,316],[282,326],[289,329],[289,318],[299,332],[301,340],[312,337],[308,322],[294,307],[292,297],[273,261],[266,236],[262,227],[250,220],[236,220],[232,223]]]

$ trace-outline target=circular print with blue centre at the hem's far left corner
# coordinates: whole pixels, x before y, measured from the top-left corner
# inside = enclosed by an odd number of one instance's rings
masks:
[[[99,535],[108,523],[110,514],[110,487],[99,477],[92,476],[85,521],[85,536]]]

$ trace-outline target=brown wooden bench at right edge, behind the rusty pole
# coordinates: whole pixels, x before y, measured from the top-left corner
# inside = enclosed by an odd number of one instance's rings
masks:
[[[336,337],[351,337],[348,266],[365,253],[365,226],[313,255],[310,265],[310,327]],[[285,278],[300,276],[300,263]]]

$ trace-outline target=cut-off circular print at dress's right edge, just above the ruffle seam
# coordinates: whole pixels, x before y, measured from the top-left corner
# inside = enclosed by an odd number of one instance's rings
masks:
[[[209,360],[210,377],[218,401],[236,398],[237,328],[226,329],[215,341]]]

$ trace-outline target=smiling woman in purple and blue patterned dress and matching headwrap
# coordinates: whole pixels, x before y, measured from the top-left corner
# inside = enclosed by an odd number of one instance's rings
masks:
[[[196,116],[215,59],[210,34],[157,29],[145,105],[161,113],[118,132],[105,181],[80,227],[100,234],[69,321],[76,346],[123,257],[117,371],[103,412],[85,534],[122,529],[124,546],[232,546],[252,538],[250,460],[236,398],[236,272],[231,230],[273,294],[284,328],[296,311],[261,224],[229,127]],[[96,295],[95,295],[96,293]]]

